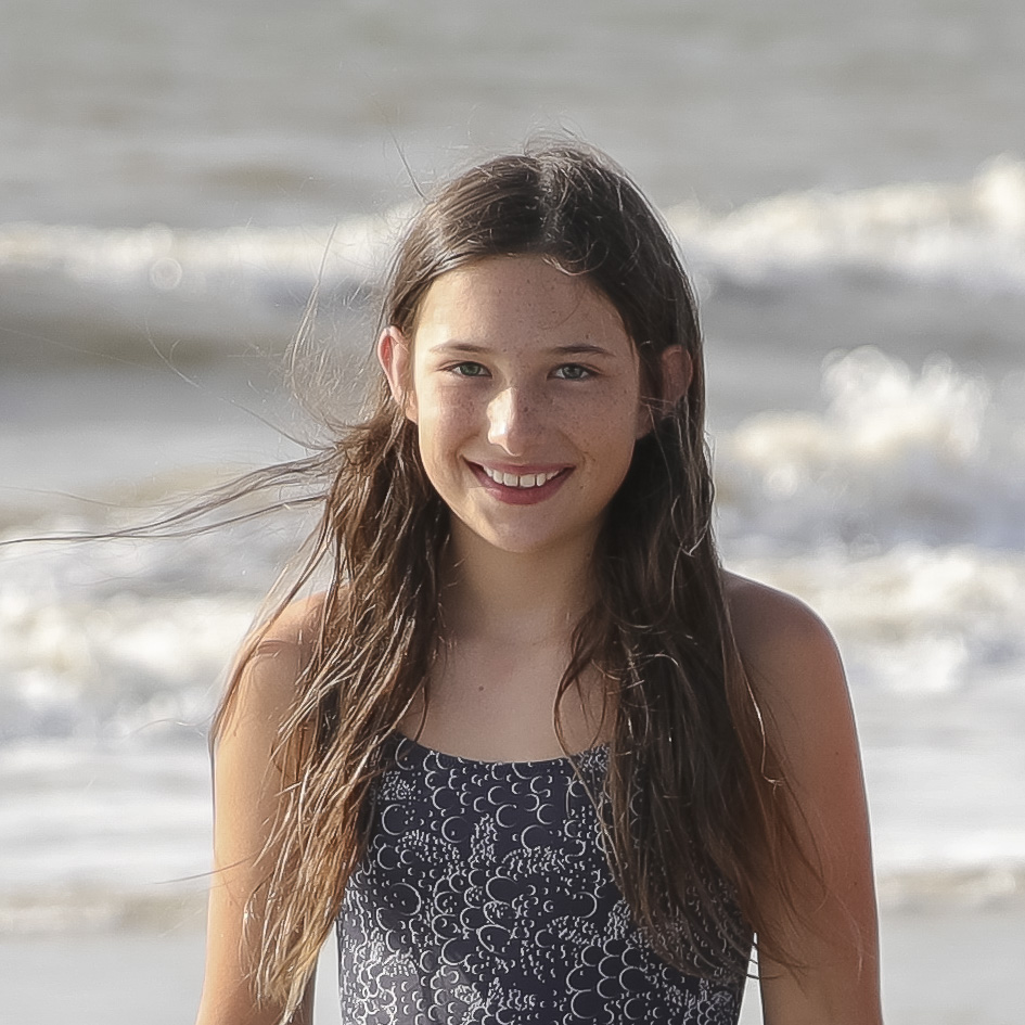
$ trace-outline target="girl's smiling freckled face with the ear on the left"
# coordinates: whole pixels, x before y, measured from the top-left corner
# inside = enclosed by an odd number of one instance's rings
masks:
[[[453,540],[589,550],[650,425],[608,299],[540,257],[492,257],[435,281],[413,337],[392,329],[379,355]]]

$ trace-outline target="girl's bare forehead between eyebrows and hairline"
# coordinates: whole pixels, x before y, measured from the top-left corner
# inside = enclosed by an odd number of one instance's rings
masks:
[[[492,334],[586,338],[632,350],[608,298],[586,278],[540,256],[489,257],[448,271],[427,290],[417,317],[418,342],[487,341]]]

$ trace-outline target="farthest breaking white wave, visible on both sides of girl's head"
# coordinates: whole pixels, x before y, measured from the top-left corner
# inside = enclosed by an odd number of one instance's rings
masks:
[[[164,334],[214,351],[247,339],[284,344],[318,282],[328,297],[380,280],[410,214],[402,206],[334,227],[203,231],[5,225],[0,281],[23,319],[60,308],[100,346],[107,336],[123,345],[125,330],[139,345]],[[713,289],[869,274],[982,296],[1025,294],[1025,161],[1009,155],[966,182],[784,194],[725,215],[681,205],[666,216],[688,264]]]

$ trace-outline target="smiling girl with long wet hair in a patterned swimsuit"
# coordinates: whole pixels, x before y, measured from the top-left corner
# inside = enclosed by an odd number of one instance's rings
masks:
[[[198,1025],[880,1022],[830,635],[720,566],[693,295],[606,158],[439,189],[215,723]],[[297,600],[326,561],[323,593]]]

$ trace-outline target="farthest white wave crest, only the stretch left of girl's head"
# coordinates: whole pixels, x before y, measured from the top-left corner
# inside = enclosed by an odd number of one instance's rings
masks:
[[[315,290],[335,309],[381,277],[399,216],[196,231],[0,226],[7,317],[27,325],[12,337],[27,335],[33,361],[281,350]]]

